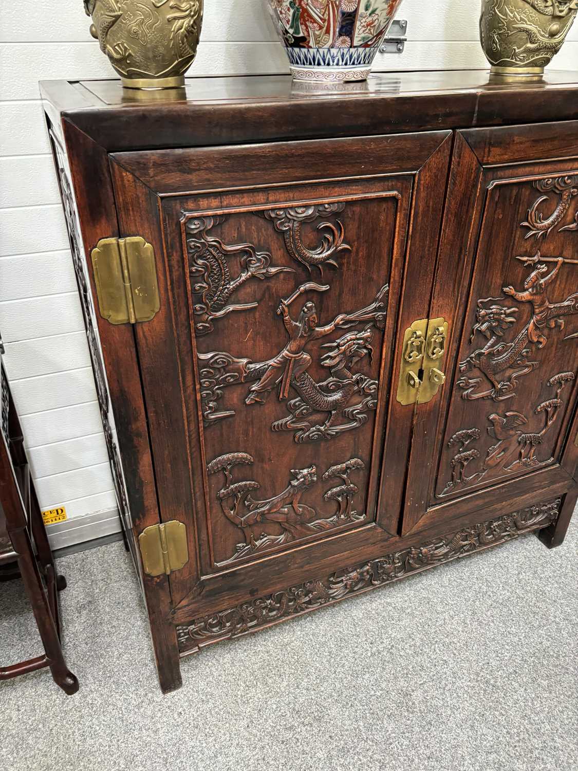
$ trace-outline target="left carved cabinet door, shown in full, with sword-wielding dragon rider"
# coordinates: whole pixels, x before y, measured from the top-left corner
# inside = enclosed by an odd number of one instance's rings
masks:
[[[111,156],[119,231],[153,245],[136,345],[176,620],[396,534],[415,410],[400,335],[427,314],[449,132]],[[257,590],[258,588],[258,590]]]

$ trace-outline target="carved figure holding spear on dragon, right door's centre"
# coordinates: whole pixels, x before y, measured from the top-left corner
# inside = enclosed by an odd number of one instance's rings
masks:
[[[504,336],[517,322],[519,308],[499,304],[505,297],[482,298],[477,302],[476,324],[472,328],[470,342],[477,335],[486,338],[483,348],[476,348],[466,359],[459,362],[462,377],[458,385],[463,390],[464,399],[493,399],[495,402],[516,396],[519,378],[533,372],[539,365],[530,361],[533,348],[541,349],[547,345],[549,330],[563,330],[564,317],[578,313],[578,293],[569,295],[561,302],[549,300],[550,287],[555,283],[560,268],[564,264],[576,264],[575,260],[563,257],[542,257],[538,252],[533,257],[519,256],[530,273],[524,281],[523,291],[516,291],[512,286],[502,288],[516,302],[528,303],[532,308],[529,322],[518,332],[512,342],[505,342]],[[547,263],[555,263],[549,271]],[[488,305],[492,303],[492,305]],[[575,337],[566,335],[564,339]],[[482,378],[470,378],[465,372],[478,370],[489,382],[485,388]],[[480,388],[481,387],[481,388]]]

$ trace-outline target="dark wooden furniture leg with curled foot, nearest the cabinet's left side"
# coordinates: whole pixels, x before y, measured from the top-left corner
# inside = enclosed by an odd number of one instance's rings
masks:
[[[57,625],[52,617],[49,598],[42,585],[42,577],[35,560],[29,534],[26,530],[14,530],[11,533],[11,538],[18,553],[18,566],[22,574],[24,588],[29,596],[30,604],[32,604],[42,645],[44,645],[46,657],[50,662],[49,668],[52,672],[52,678],[65,693],[72,695],[78,691],[79,682],[66,666]]]

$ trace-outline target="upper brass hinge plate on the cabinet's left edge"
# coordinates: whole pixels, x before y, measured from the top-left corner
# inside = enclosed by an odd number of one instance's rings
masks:
[[[140,236],[101,238],[90,256],[102,318],[150,322],[160,308],[152,244]]]

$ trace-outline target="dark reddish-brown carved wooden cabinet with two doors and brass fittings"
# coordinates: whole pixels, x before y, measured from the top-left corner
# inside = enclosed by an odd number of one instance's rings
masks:
[[[163,690],[214,641],[563,539],[578,85],[550,80],[44,84]]]

